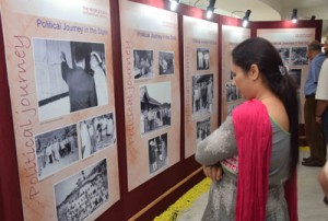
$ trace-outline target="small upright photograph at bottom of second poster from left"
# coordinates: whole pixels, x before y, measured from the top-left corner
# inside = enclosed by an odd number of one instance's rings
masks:
[[[167,133],[148,141],[149,171],[154,173],[167,164]]]

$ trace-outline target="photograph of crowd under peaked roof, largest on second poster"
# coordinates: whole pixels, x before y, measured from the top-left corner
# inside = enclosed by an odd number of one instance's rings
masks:
[[[140,132],[144,135],[171,126],[171,82],[140,86]]]

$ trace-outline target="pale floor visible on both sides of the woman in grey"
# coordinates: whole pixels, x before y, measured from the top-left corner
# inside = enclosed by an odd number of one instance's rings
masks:
[[[308,151],[300,152],[300,160],[308,156]],[[319,167],[307,167],[301,163],[297,173],[298,221],[328,221],[328,207],[323,202],[324,194],[318,184]],[[200,196],[188,210],[181,212],[177,221],[200,221],[207,203],[208,193]]]

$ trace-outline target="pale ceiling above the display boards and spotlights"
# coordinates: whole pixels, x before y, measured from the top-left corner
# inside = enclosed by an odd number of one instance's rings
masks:
[[[210,0],[180,0],[180,3],[206,10]],[[250,10],[250,21],[290,20],[293,9],[297,9],[300,20],[323,20],[323,37],[328,34],[328,0],[216,0],[214,13],[243,18]]]

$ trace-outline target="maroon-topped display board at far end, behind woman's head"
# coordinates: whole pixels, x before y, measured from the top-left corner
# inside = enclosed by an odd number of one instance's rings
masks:
[[[307,77],[308,62],[305,57],[309,42],[321,39],[323,20],[298,20],[253,23],[251,34],[270,40],[279,50],[289,72],[298,85],[300,106],[300,146],[307,146],[304,131],[303,107],[305,102],[304,83]]]

